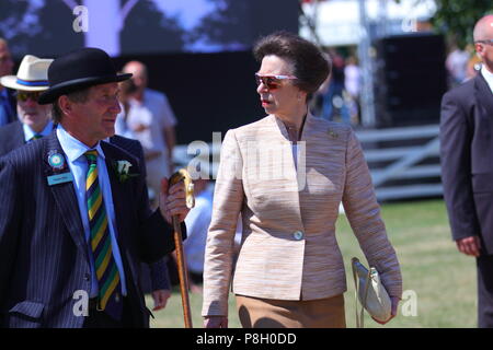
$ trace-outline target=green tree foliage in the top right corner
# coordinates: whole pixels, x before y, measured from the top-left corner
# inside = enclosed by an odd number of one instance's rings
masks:
[[[432,19],[435,28],[447,39],[465,48],[472,44],[472,30],[483,15],[493,13],[492,0],[435,0],[437,12]]]

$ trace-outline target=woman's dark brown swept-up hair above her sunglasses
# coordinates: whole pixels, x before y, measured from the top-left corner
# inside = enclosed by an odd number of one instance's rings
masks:
[[[332,62],[314,44],[288,32],[275,32],[261,38],[253,48],[255,59],[275,55],[294,63],[295,85],[308,93],[308,100],[326,80]]]

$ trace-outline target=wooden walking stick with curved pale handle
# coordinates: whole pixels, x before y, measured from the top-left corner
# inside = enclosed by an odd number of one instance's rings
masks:
[[[186,207],[192,209],[195,206],[194,184],[192,183],[192,177],[186,170],[181,168],[180,171],[171,175],[170,187],[182,180],[185,183]],[[183,252],[182,229],[180,226],[177,215],[173,215],[173,229],[174,245],[176,248],[176,265],[180,279],[180,292],[182,294],[183,317],[185,318],[185,328],[193,328],[192,312],[188,299],[188,271],[186,269],[185,255]]]

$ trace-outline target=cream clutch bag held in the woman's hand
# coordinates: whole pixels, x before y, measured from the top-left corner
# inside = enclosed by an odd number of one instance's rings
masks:
[[[357,258],[351,260],[355,283],[356,327],[363,328],[363,311],[366,310],[374,318],[387,320],[391,315],[390,296],[380,281],[376,268],[368,269]],[[362,310],[358,313],[358,300]]]

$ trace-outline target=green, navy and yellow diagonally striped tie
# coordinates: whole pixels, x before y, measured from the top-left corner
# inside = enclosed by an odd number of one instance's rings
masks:
[[[91,231],[91,249],[98,277],[99,310],[115,319],[122,317],[119,272],[113,257],[112,237],[107,226],[103,194],[98,180],[98,151],[84,153],[89,170],[85,177],[85,198],[88,201],[89,226]]]

